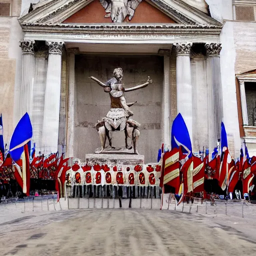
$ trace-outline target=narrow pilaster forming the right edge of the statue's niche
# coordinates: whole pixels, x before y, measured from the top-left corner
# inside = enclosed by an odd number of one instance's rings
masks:
[[[163,55],[161,140],[170,148],[170,50]]]

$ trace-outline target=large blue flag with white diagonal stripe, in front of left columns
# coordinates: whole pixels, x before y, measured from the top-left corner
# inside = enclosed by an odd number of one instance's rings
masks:
[[[10,155],[13,161],[20,159],[24,151],[24,145],[30,147],[32,138],[32,125],[28,113],[25,113],[15,127],[10,140]],[[30,148],[28,148],[29,152]]]

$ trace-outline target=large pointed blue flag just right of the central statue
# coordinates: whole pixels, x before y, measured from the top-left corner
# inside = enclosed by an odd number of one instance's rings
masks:
[[[175,117],[171,127],[171,149],[181,146],[182,152],[192,156],[192,145],[185,121],[180,113]]]

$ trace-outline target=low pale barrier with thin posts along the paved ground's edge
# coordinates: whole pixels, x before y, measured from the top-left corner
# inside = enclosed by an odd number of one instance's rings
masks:
[[[175,212],[196,213],[207,215],[226,215],[256,219],[256,203],[246,200],[219,200],[201,199],[190,197],[179,205],[173,194],[164,194],[161,207],[160,198],[60,198],[57,201],[56,194],[28,196],[22,199],[8,198],[1,200],[0,210],[19,212],[33,211],[58,211],[68,209],[113,209],[113,208],[135,208],[135,209],[160,209]]]

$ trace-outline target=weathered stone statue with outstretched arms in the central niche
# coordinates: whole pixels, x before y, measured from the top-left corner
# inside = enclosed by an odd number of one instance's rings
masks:
[[[90,76],[90,78],[102,86],[105,92],[109,93],[111,100],[110,110],[107,112],[106,116],[102,118],[101,121],[98,120],[96,123],[96,129],[98,131],[101,144],[100,149],[96,151],[96,153],[101,153],[105,149],[106,137],[108,138],[109,146],[114,149],[114,147],[112,147],[111,141],[112,131],[124,130],[125,148],[131,149],[133,147],[134,153],[138,154],[136,149],[136,141],[139,137],[138,127],[140,124],[130,119],[130,116],[133,115],[133,112],[130,110],[130,106],[136,102],[127,103],[124,97],[124,92],[146,87],[148,84],[152,83],[152,80],[148,76],[145,83],[131,88],[124,88],[122,83],[123,71],[120,67],[114,69],[113,77],[106,83],[99,81],[93,76]],[[128,145],[127,137],[131,138],[131,145]]]

